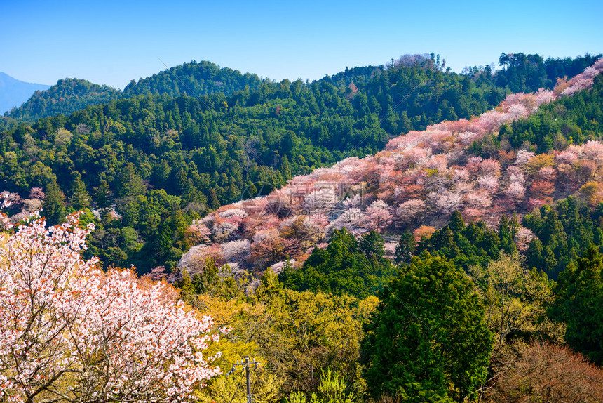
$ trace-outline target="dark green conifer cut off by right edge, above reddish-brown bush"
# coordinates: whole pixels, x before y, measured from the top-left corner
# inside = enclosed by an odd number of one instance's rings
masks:
[[[603,363],[603,255],[589,246],[582,258],[561,272],[553,317],[567,324],[565,339],[595,364]]]

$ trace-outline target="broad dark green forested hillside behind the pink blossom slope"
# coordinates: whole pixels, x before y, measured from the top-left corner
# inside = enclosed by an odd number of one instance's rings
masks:
[[[505,96],[492,81],[425,63],[360,69],[358,86],[285,80],[230,97],[137,95],[20,124],[2,133],[0,177],[22,199],[41,187],[50,223],[66,208],[105,211],[90,242],[105,265],[175,267],[196,243],[187,227],[207,211]]]

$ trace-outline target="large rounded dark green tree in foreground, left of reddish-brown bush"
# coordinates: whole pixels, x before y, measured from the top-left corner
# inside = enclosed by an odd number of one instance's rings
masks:
[[[473,282],[439,256],[414,257],[386,291],[361,345],[371,395],[462,402],[485,381],[492,335]]]

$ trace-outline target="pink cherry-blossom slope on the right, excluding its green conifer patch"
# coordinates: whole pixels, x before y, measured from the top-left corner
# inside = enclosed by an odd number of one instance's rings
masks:
[[[603,91],[601,72],[603,60],[555,91],[508,95],[479,117],[411,131],[390,140],[374,156],[348,158],[293,178],[266,197],[223,206],[191,227],[203,234],[205,243],[191,248],[180,267],[195,272],[212,257],[218,264],[262,272],[287,257],[305,260],[342,227],[355,234],[414,230],[420,238],[445,225],[457,210],[468,221],[485,220],[496,227],[503,215],[521,216],[571,194],[596,206],[603,195],[602,143],[587,138],[583,145],[571,145],[570,138],[567,148],[561,144],[558,150],[536,154],[529,142],[522,144],[527,150],[511,147],[507,130],[558,98],[558,113],[569,116],[560,105],[593,84],[591,102],[596,103]],[[597,113],[601,119],[600,109]],[[574,124],[588,125],[579,115]],[[600,126],[594,129],[600,138]],[[500,144],[486,158],[471,154],[477,144],[485,149],[496,142]],[[522,234],[529,236],[529,231]]]

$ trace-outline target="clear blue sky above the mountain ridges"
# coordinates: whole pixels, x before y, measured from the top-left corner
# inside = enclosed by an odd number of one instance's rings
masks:
[[[56,3],[56,4],[55,4]],[[0,1],[0,72],[123,88],[191,60],[318,79],[405,53],[461,71],[501,52],[603,53],[603,1]]]

